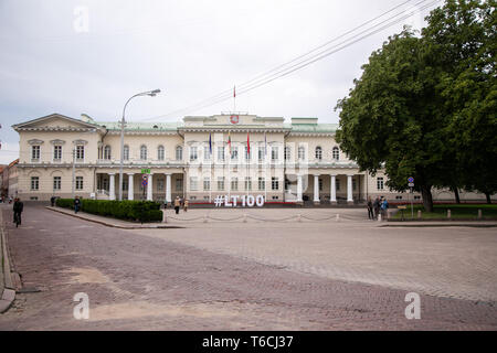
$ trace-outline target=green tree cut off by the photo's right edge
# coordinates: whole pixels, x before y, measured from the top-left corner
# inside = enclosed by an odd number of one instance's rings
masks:
[[[497,14],[495,1],[447,0],[427,18],[425,45],[440,53],[444,114],[451,117],[454,178],[466,190],[497,192]]]

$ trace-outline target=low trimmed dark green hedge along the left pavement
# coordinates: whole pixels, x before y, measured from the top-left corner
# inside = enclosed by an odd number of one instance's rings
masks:
[[[57,199],[56,205],[64,208],[74,207],[74,199]],[[162,211],[160,203],[152,201],[110,201],[82,200],[81,211],[126,221],[160,222]]]

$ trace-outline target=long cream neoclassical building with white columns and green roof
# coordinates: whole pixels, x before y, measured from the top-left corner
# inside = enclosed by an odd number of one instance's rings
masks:
[[[317,118],[221,114],[182,122],[128,122],[124,139],[125,200],[211,203],[218,195],[264,195],[266,202],[353,203],[383,195],[405,202],[419,194],[390,191],[382,172],[360,172],[335,141],[335,124]],[[115,200],[119,195],[120,124],[52,114],[17,124],[18,195]],[[147,180],[142,182],[144,175]],[[483,195],[462,194],[463,200]],[[453,200],[434,191],[435,200]]]

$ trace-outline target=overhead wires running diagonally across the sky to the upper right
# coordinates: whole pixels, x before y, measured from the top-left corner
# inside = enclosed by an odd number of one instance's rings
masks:
[[[255,77],[253,77],[250,81],[246,81],[240,85],[236,85],[236,94],[237,95],[242,95],[244,93],[251,92],[253,89],[256,89],[263,85],[266,85],[277,78],[287,76],[298,69],[302,69],[317,61],[320,61],[331,54],[335,54],[339,51],[345,50],[346,47],[360,42],[380,31],[383,31],[387,28],[390,28],[399,22],[404,21],[405,19],[412,17],[413,14],[417,13],[417,12],[422,12],[429,8],[431,8],[432,6],[434,6],[435,3],[440,2],[441,0],[421,0],[417,1],[413,8],[411,9],[404,9],[400,12],[396,12],[393,15],[390,15],[387,19],[383,19],[381,22],[373,24],[371,26],[368,26],[368,24],[371,24],[372,22],[385,17],[387,14],[394,12],[395,10],[398,10],[399,8],[404,7],[406,3],[411,2],[412,0],[408,0],[404,1],[395,7],[393,7],[392,9],[383,12],[382,14],[356,26],[355,29],[347,31],[346,33],[338,35],[336,38],[334,38],[330,41],[327,41],[326,43],[308,51],[305,54],[302,54],[297,57],[295,57],[294,60],[286,62],[282,65],[278,65],[263,74],[260,74]],[[429,2],[430,1],[430,2]],[[427,2],[427,3],[426,3]],[[412,11],[411,11],[412,10]],[[409,12],[410,11],[410,12]],[[352,34],[353,32],[368,26],[367,29],[347,38],[347,35]],[[346,39],[347,38],[347,39]],[[340,41],[341,40],[341,41]],[[334,44],[332,46],[329,46],[331,43],[338,42],[336,44]],[[326,47],[326,49],[325,49]],[[322,50],[324,49],[324,50]],[[233,90],[232,89],[226,89],[221,92],[218,95],[211,96],[207,99],[203,99],[194,105],[188,106],[186,108],[182,109],[177,109],[175,111],[168,113],[166,115],[160,115],[160,116],[156,116],[156,117],[151,117],[151,118],[147,118],[147,119],[142,119],[141,121],[148,121],[148,120],[157,120],[157,119],[161,119],[161,118],[167,118],[167,117],[171,117],[171,116],[178,116],[178,115],[183,115],[187,113],[192,113],[202,108],[207,108],[209,106],[222,103],[224,100],[231,99],[232,98],[232,94]]]

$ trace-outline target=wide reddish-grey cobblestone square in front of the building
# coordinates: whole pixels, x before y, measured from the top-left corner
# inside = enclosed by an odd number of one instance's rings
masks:
[[[15,228],[1,211],[13,268],[40,289],[17,295],[1,330],[497,329],[495,228],[253,208],[168,210],[183,228],[125,231],[31,205]],[[88,320],[73,317],[78,292]]]

